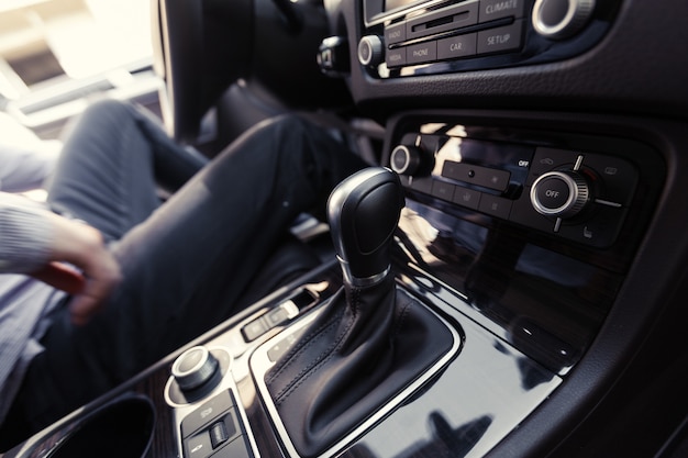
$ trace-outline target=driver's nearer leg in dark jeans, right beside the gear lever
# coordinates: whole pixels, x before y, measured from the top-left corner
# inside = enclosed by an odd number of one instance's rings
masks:
[[[295,216],[363,166],[301,120],[240,138],[121,239],[124,282],[101,314],[82,327],[55,316],[22,389],[34,428],[231,316]]]

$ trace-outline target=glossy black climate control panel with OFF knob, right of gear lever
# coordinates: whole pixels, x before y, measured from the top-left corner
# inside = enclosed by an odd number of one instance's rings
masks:
[[[486,327],[564,375],[614,302],[662,190],[664,161],[625,136],[524,125],[399,115],[385,160],[398,168],[400,146],[418,156],[402,172],[404,257],[463,294]],[[535,211],[539,177],[576,167],[592,177],[585,210]]]

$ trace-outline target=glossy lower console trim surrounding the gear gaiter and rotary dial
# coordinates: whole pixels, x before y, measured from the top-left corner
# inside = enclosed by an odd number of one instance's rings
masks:
[[[426,377],[421,375],[379,415],[339,444],[337,449],[341,456],[351,457],[430,457],[457,449],[464,450],[465,456],[481,456],[542,403],[559,386],[562,378],[468,319],[462,310],[469,311],[470,306],[442,282],[412,267],[395,269],[397,287],[443,316],[442,320],[455,329],[456,345]],[[7,457],[43,456],[71,428],[78,427],[89,410],[130,392],[145,395],[157,412],[151,457],[221,457],[234,456],[225,454],[237,450],[241,456],[254,458],[287,456],[258,395],[249,360],[260,346],[268,351],[285,336],[289,338],[291,331],[285,329],[297,329],[299,323],[318,312],[318,305],[252,342],[246,342],[242,329],[290,301],[295,291],[315,290],[320,303],[326,301],[340,284],[339,266],[334,262],[324,266],[300,279],[291,289],[279,291],[225,326],[191,343],[189,347],[203,345],[211,351],[226,351],[231,357],[231,362],[222,368],[221,380],[203,396],[193,400],[178,398],[170,368],[184,350],[180,349]],[[457,306],[459,302],[462,305]],[[456,356],[462,345],[463,349]],[[437,372],[437,369],[442,370]],[[226,438],[214,446],[213,436],[218,434],[219,424],[224,431],[221,437]]]

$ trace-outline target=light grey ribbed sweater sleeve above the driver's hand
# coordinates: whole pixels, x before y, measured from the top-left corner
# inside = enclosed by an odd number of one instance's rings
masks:
[[[52,225],[40,204],[0,192],[0,273],[26,273],[51,254]]]

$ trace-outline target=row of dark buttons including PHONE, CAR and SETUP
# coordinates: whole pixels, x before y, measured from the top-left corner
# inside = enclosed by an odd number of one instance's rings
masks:
[[[400,67],[503,53],[519,49],[522,36],[523,21],[519,20],[501,27],[387,49],[385,60],[388,67]]]

